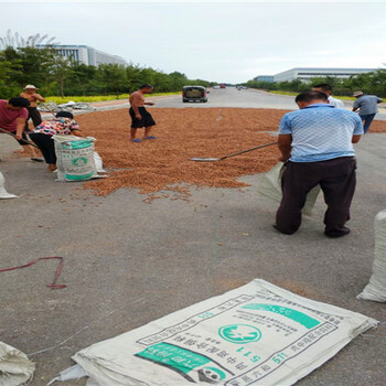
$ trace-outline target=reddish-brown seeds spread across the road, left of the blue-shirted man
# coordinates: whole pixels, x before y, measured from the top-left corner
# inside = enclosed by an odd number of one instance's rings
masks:
[[[78,116],[82,129],[97,138],[105,165],[116,169],[108,179],[85,184],[97,195],[119,187],[139,189],[147,201],[161,197],[189,200],[190,185],[243,187],[243,175],[268,171],[279,153],[265,148],[217,163],[190,161],[193,157],[221,157],[272,141],[285,110],[205,108],[153,109],[157,140],[129,142],[126,109]],[[222,120],[217,120],[218,116]],[[139,130],[141,131],[141,130]],[[140,132],[141,133],[141,132]],[[140,136],[139,136],[140,137]]]

